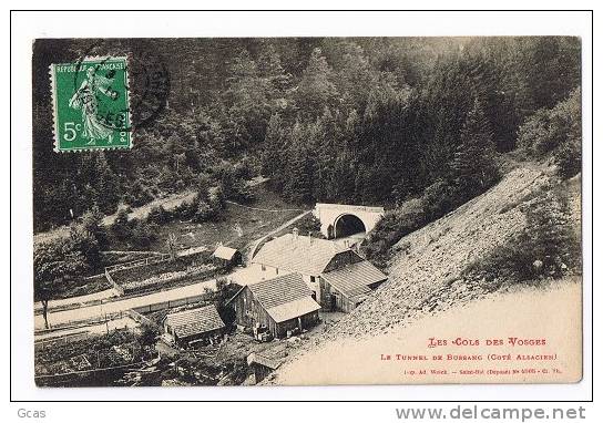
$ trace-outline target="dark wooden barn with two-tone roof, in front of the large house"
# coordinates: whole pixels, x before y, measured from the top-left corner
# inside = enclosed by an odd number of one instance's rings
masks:
[[[320,306],[311,293],[302,275],[287,274],[243,287],[226,305],[235,310],[237,324],[284,338],[318,321]]]

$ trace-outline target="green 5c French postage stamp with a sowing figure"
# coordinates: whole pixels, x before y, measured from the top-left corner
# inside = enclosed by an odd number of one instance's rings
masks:
[[[131,148],[126,58],[51,64],[54,151]]]

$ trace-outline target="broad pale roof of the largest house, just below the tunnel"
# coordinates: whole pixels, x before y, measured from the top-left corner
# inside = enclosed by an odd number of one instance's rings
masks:
[[[266,243],[252,262],[318,276],[334,256],[345,251],[349,248],[327,239],[286,234]]]

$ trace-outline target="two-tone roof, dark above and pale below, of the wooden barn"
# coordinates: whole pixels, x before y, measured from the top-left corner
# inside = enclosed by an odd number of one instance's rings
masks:
[[[283,275],[247,287],[277,323],[320,309],[299,274]]]

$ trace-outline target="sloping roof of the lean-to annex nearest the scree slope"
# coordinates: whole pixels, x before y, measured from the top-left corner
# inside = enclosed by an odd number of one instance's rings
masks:
[[[323,274],[323,278],[348,298],[370,291],[369,285],[387,279],[387,276],[369,261],[359,261]]]

